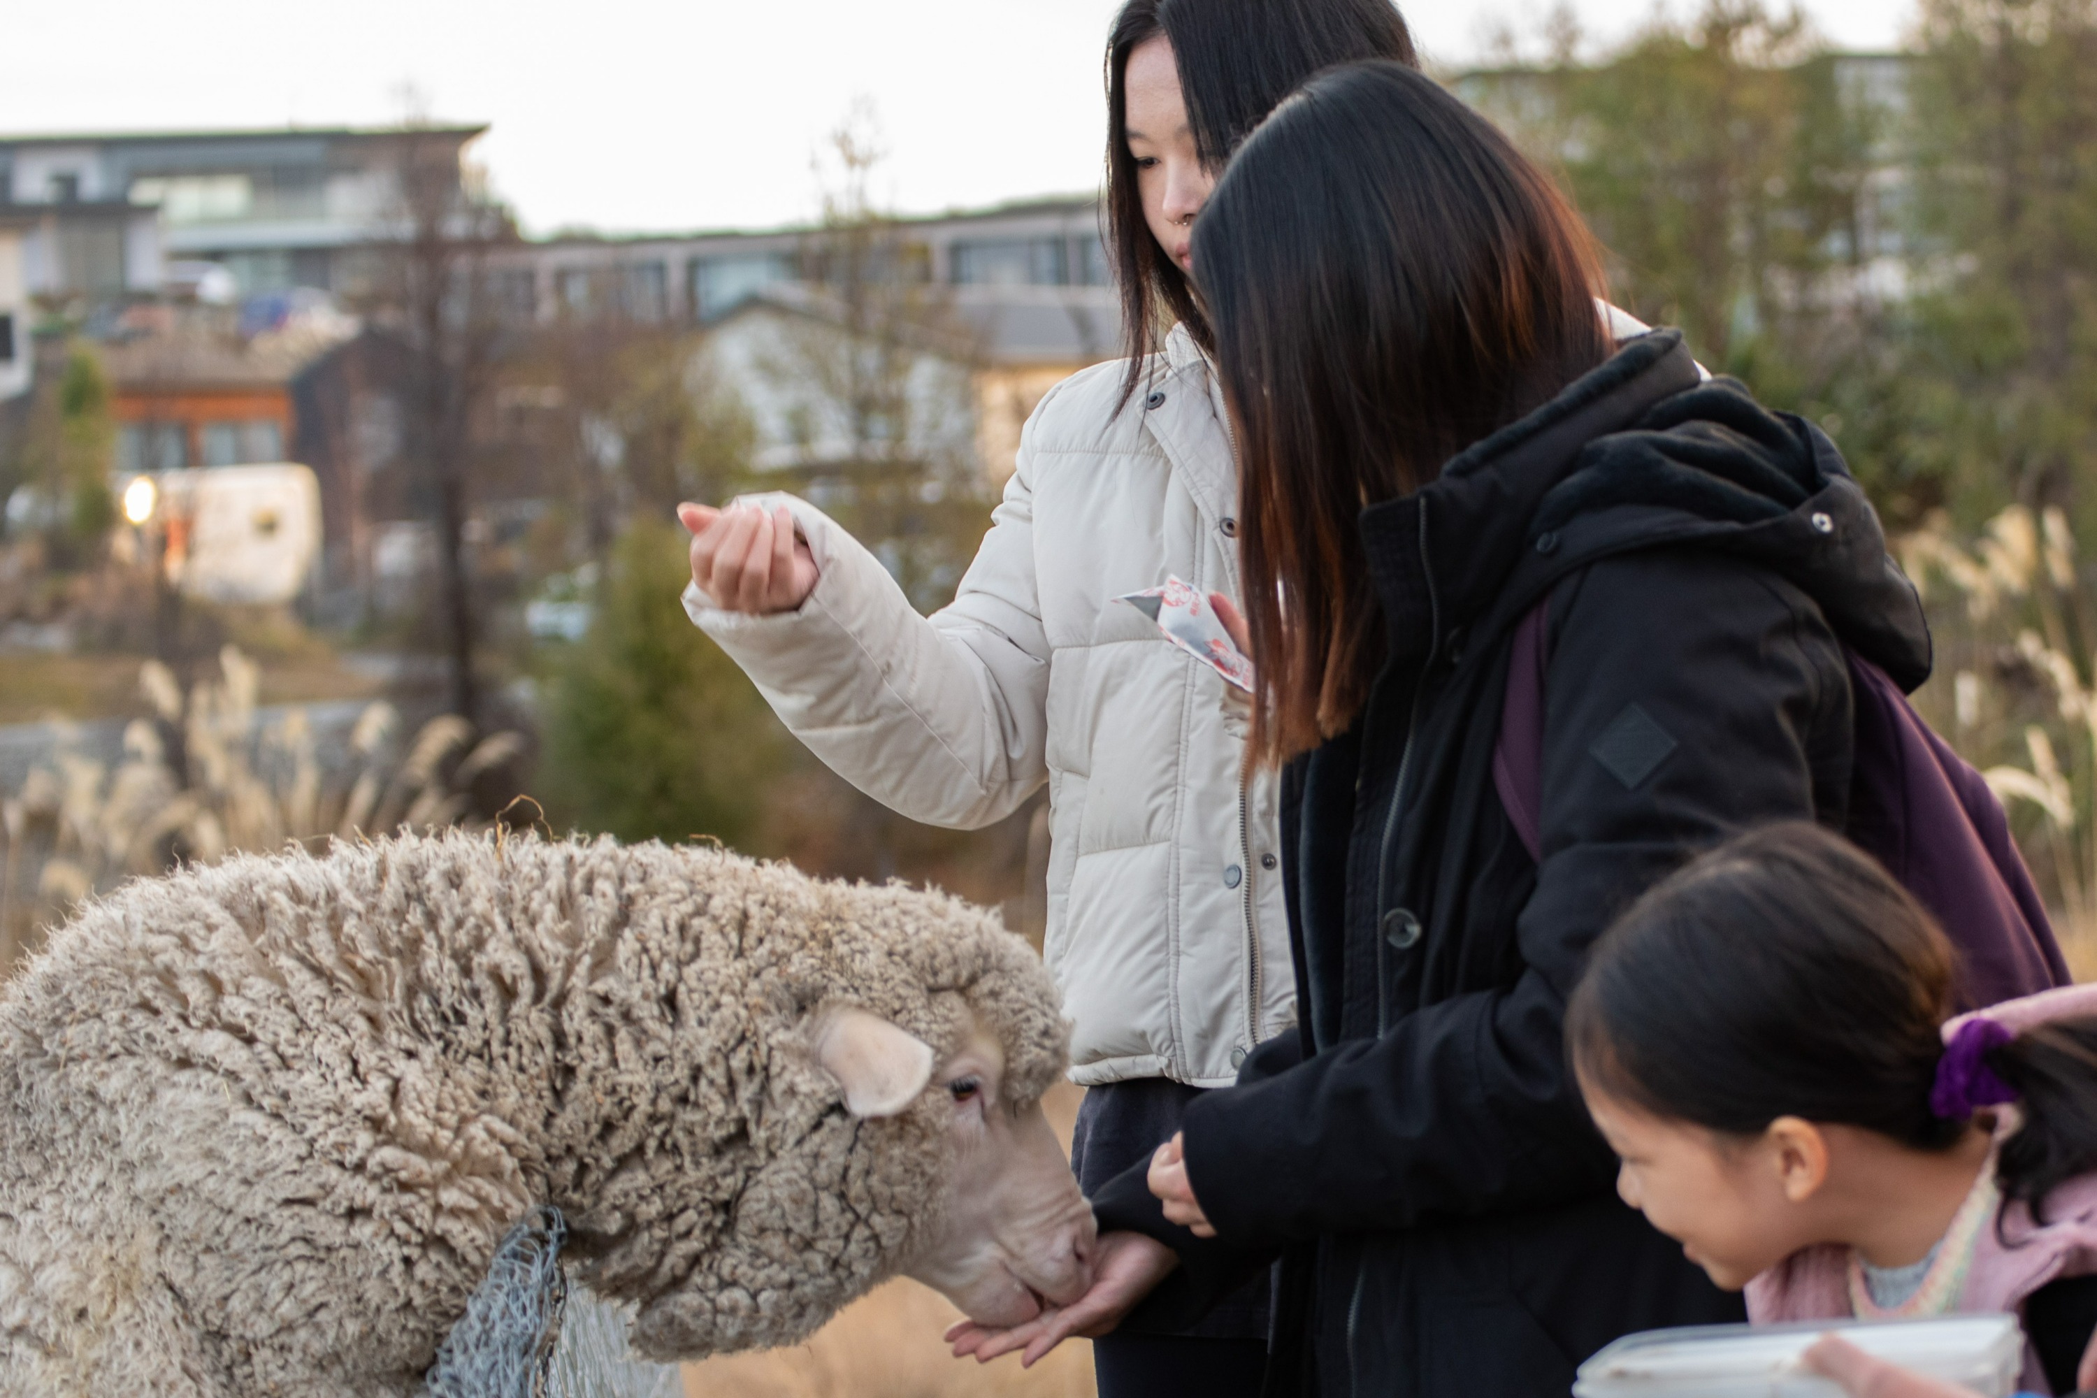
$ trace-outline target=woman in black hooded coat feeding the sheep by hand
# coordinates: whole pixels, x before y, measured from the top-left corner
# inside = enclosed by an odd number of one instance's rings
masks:
[[[1269,1392],[1564,1394],[1617,1335],[1741,1318],[1615,1197],[1562,1050],[1585,952],[1726,832],[1843,826],[1843,646],[1912,687],[1921,608],[1835,446],[1673,331],[1615,344],[1579,216],[1418,71],[1283,103],[1193,266],[1302,1021],[1095,1209],[1174,1247],[1151,1323],[1283,1258]]]

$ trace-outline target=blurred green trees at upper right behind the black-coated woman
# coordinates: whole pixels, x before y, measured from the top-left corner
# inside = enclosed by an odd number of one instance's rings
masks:
[[[1569,48],[1569,46],[1562,46]],[[1613,296],[1820,421],[1898,528],[2097,499],[2097,0],[1925,0],[1833,54],[1761,0],[1462,80],[1562,170]]]

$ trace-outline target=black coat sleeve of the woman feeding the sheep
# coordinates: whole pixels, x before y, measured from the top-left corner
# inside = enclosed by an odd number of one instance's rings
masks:
[[[1197,1098],[1187,1167],[1225,1239],[1409,1228],[1606,1191],[1615,1163],[1562,1052],[1587,947],[1688,851],[1810,820],[1816,790],[1845,790],[1847,673],[1801,593],[1682,553],[1602,562],[1564,591],[1520,966],[1382,1037]]]

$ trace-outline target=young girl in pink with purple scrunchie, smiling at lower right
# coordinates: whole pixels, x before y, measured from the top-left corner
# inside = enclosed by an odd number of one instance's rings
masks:
[[[1952,947],[1810,824],[1722,845],[1566,1010],[1617,1188],[1757,1323],[2013,1310],[2024,1383],[2097,1388],[2097,987],[1946,1023]]]

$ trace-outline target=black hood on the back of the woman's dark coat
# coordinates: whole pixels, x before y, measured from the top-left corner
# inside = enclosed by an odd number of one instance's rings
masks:
[[[1787,576],[1902,690],[1929,677],[1921,602],[1835,442],[1701,379],[1680,331],[1625,342],[1361,532],[1399,658],[1493,635],[1610,553],[1692,545]]]

